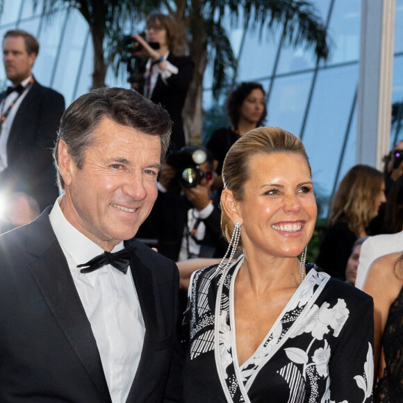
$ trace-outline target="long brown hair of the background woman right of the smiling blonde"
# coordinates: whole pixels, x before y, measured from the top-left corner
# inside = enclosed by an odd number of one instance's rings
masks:
[[[369,165],[354,165],[338,186],[331,202],[329,226],[346,222],[356,236],[377,215],[376,197],[384,174]]]

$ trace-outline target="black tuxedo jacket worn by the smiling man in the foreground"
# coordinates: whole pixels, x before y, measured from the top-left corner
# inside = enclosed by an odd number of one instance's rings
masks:
[[[0,236],[0,402],[111,402],[49,213]],[[181,402],[178,270],[138,240],[131,244],[146,332],[126,402]]]

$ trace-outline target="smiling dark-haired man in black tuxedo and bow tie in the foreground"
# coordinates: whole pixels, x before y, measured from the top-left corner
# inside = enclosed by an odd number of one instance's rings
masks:
[[[171,126],[123,88],[65,111],[54,149],[63,195],[0,236],[1,402],[181,401],[178,270],[132,239]]]

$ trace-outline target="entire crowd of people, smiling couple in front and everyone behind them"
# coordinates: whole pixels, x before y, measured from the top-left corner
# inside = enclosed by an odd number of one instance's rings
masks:
[[[0,401],[402,402],[403,142],[345,174],[306,262],[302,141],[244,82],[186,145],[195,66],[170,17],[146,25],[138,90],[66,110],[38,41],[3,37]]]

